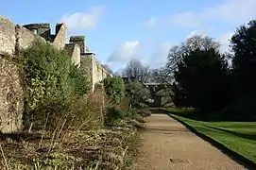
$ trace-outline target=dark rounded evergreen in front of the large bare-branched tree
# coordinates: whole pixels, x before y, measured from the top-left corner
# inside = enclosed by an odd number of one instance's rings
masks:
[[[215,49],[196,49],[184,54],[175,72],[181,98],[185,99],[184,106],[203,110],[223,109],[229,101],[228,76],[225,56]]]

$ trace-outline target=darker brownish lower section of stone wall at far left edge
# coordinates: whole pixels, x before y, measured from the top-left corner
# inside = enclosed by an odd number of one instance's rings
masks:
[[[12,132],[22,127],[23,89],[17,64],[0,55],[0,131]]]

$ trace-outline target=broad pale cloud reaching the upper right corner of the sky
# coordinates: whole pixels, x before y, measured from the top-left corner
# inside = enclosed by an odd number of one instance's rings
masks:
[[[226,0],[225,3],[202,11],[186,11],[174,16],[171,22],[178,26],[200,26],[209,20],[243,24],[256,17],[255,0]]]

